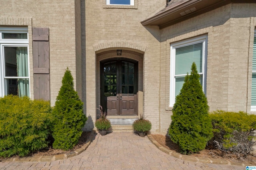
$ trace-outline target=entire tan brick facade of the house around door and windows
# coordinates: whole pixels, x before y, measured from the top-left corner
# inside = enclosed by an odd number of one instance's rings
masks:
[[[210,111],[250,113],[252,48],[256,4],[227,4],[163,29],[142,26],[166,0],[135,0],[134,6],[107,6],[105,0],[0,0],[0,26],[26,26],[29,32],[30,86],[33,99],[32,27],[49,27],[50,98],[52,106],[66,67],[94,128],[100,105],[100,61],[122,57],[138,61],[139,112],[152,122],[152,132],[166,134],[172,108],[170,44],[207,35],[207,90]]]

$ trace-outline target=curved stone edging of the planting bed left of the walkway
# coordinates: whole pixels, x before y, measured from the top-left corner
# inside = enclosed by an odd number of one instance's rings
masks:
[[[71,158],[73,156],[76,156],[76,155],[84,152],[84,150],[86,150],[88,148],[88,146],[90,145],[94,135],[95,135],[95,130],[92,130],[92,132],[88,136],[88,139],[86,140],[86,144],[84,144],[84,146],[82,146],[79,149],[76,149],[73,152],[67,153],[67,154],[47,155],[47,156],[30,156],[30,157],[26,157],[26,158],[10,158],[8,160],[13,161],[13,162],[14,161],[15,162],[47,162],[47,161]]]

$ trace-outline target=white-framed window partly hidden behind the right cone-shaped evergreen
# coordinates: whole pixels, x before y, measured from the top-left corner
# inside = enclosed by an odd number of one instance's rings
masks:
[[[200,83],[206,94],[207,35],[171,44],[170,56],[170,107],[190,74],[192,63],[196,63]]]

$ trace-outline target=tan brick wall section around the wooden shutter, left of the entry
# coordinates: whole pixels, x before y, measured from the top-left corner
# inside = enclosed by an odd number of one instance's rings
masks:
[[[76,2],[76,4],[75,4]],[[28,26],[30,89],[33,99],[33,60],[32,60],[32,27],[49,27],[50,41],[50,98],[53,106],[60,90],[62,76],[68,67],[74,77],[75,88],[80,88],[81,76],[79,69],[81,45],[79,46],[79,8],[78,0],[56,0],[49,3],[44,0],[0,0],[0,25]],[[75,8],[78,13],[75,13]],[[76,29],[76,27],[78,29]],[[78,49],[76,49],[78,47]],[[77,59],[76,59],[77,57]],[[80,70],[79,70],[80,72]],[[79,83],[77,85],[77,82]],[[81,95],[81,90],[78,93]]]

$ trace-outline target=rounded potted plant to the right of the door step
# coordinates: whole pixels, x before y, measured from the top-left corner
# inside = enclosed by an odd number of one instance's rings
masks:
[[[151,122],[145,119],[144,115],[140,113],[138,119],[133,122],[132,127],[139,136],[144,137],[151,129]]]

